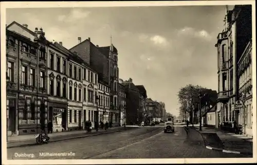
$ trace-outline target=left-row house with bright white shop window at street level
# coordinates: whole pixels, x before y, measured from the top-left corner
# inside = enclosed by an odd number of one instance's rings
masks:
[[[63,51],[57,43],[48,44],[47,60],[47,94],[48,116],[53,123],[53,132],[60,132],[68,129],[67,121],[67,60],[69,54]]]

